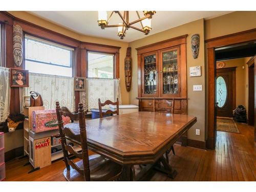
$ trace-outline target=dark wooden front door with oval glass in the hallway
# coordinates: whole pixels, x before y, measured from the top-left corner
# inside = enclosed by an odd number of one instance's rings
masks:
[[[232,117],[236,108],[236,68],[217,69],[216,110],[218,117]]]

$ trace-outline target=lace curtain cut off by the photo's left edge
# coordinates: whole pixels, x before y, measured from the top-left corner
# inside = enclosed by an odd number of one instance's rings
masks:
[[[0,67],[0,122],[5,122],[10,106],[9,69]]]

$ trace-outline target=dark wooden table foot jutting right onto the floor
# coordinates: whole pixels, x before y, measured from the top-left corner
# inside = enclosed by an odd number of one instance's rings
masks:
[[[163,166],[161,165],[161,163]],[[168,177],[172,179],[174,179],[177,175],[177,171],[169,165],[169,163],[163,156],[157,161],[157,163],[154,165],[154,168],[159,170],[160,172],[167,174]]]

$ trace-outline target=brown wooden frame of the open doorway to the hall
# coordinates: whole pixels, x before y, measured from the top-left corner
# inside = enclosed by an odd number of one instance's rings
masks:
[[[205,40],[207,49],[207,65],[208,65],[208,109],[207,109],[207,139],[206,147],[214,150],[216,143],[216,109],[215,109],[215,86],[216,86],[216,60],[215,49],[243,42],[256,40],[256,28],[248,31],[225,35],[221,37]],[[254,77],[255,79],[255,77]],[[254,106],[254,111],[256,111]]]

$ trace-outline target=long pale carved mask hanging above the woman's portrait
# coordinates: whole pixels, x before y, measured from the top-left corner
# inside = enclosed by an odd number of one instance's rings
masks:
[[[13,60],[15,66],[19,67],[23,61],[23,32],[19,25],[13,26]]]

